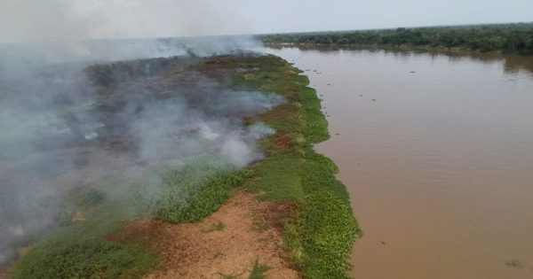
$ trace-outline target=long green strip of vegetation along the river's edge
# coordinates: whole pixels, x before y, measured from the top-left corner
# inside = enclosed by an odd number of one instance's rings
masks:
[[[277,131],[264,148],[270,156],[254,167],[247,189],[262,198],[291,200],[298,206],[284,224],[290,259],[308,278],[346,278],[349,252],[360,233],[345,186],[338,182],[335,164],[313,150],[329,138],[316,91],[306,76],[279,58],[267,57],[270,67],[234,77],[236,85],[275,90],[288,105],[259,115]]]

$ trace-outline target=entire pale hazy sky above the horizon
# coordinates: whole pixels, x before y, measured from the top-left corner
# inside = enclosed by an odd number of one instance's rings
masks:
[[[0,42],[533,21],[533,0],[0,0]]]

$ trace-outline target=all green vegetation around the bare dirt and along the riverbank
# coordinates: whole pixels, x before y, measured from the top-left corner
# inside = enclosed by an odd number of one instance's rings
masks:
[[[230,70],[229,87],[276,92],[289,101],[246,120],[249,124],[262,121],[276,130],[274,136],[259,141],[267,159],[237,170],[200,155],[183,166],[164,167],[143,182],[117,180],[75,195],[72,205],[66,206],[64,226],[29,249],[14,267],[14,278],[142,276],[159,266],[157,254],[142,241],[116,241],[111,236],[124,224],[146,215],[174,223],[202,221],[217,211],[236,187],[291,205],[289,217],[283,221],[284,245],[303,275],[348,277],[349,252],[360,230],[346,188],[335,178],[338,168],[313,149],[314,143],[329,138],[328,123],[316,91],[307,87],[306,76],[274,56],[205,58],[195,67],[199,71],[210,67]],[[106,79],[106,67],[101,71],[104,74],[94,77],[96,80]],[[124,198],[116,198],[121,195],[130,195],[127,202],[135,204],[136,210],[124,214]],[[78,210],[83,221],[71,221]],[[258,230],[270,225],[259,222]],[[219,222],[211,231],[224,227]],[[268,268],[256,262],[251,278],[262,278]]]

